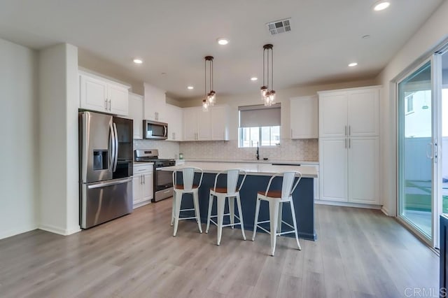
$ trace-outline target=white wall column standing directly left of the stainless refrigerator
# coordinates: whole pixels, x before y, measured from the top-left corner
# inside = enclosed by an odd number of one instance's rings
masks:
[[[78,52],[59,44],[39,53],[40,229],[78,224]]]

